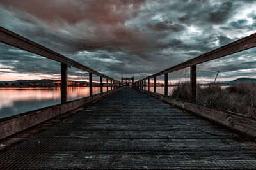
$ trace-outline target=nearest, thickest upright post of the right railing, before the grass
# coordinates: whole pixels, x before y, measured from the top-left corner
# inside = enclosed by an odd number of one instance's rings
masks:
[[[190,101],[196,102],[196,65],[190,67]]]

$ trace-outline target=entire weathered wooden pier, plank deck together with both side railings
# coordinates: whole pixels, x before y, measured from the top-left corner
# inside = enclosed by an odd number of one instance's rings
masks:
[[[138,81],[115,80],[3,27],[0,42],[61,63],[60,104],[0,119],[0,169],[256,169],[256,119],[196,103],[196,66],[255,47],[256,34]],[[71,66],[88,73],[90,96],[67,101]],[[173,99],[168,73],[187,67],[190,99]],[[164,95],[156,93],[162,75]]]

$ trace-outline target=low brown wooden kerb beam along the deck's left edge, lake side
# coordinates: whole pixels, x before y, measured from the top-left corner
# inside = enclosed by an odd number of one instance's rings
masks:
[[[101,97],[108,96],[116,92],[116,89],[109,92],[103,92],[100,94],[95,94],[93,96],[84,97],[83,99],[78,99],[76,101],[70,101],[65,104],[58,104],[56,106],[50,106],[47,108],[42,108],[40,110],[29,111],[28,113],[22,113],[20,115],[15,115],[13,117],[1,118],[0,119],[0,139],[10,136],[17,132],[23,131],[33,125],[40,124],[45,120],[54,118],[58,115],[66,113],[67,111],[74,110],[83,106],[86,103],[95,101]]]

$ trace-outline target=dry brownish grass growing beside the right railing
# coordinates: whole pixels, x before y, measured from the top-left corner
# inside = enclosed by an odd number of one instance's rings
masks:
[[[189,81],[180,82],[173,89],[171,96],[188,100],[190,96]],[[196,103],[256,117],[256,83],[239,83],[228,87],[214,84],[197,87]]]

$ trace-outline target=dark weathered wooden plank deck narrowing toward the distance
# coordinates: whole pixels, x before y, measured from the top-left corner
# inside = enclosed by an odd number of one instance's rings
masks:
[[[256,168],[256,143],[134,89],[0,155],[0,169]]]

